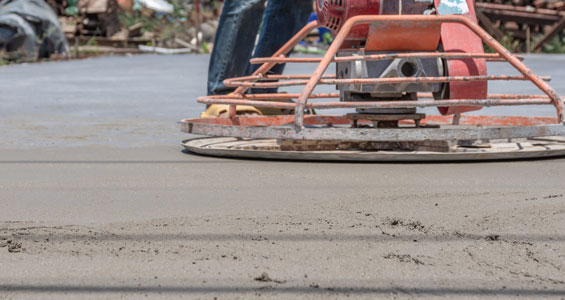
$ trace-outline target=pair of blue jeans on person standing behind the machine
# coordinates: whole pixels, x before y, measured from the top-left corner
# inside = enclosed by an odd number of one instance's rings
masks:
[[[266,8],[265,0],[225,0],[208,67],[208,95],[233,92],[234,88],[224,85],[224,79],[257,70],[260,65],[251,65],[249,59],[272,56],[306,25],[311,13],[312,0],[269,0]],[[259,42],[254,51],[259,27]],[[268,74],[282,74],[283,70],[284,65],[278,64]]]

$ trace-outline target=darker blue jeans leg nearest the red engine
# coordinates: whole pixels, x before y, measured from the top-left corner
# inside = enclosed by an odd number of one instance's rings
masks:
[[[269,0],[263,16],[259,43],[253,57],[270,57],[308,22],[312,0]],[[261,65],[250,65],[248,74]],[[282,74],[284,64],[275,65],[268,74]],[[277,89],[252,89],[251,93],[276,93]]]

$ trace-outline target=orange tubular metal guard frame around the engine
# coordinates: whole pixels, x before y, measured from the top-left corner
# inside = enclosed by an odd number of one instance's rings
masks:
[[[428,24],[432,27],[437,27],[443,23],[457,23],[468,27],[473,31],[481,40],[490,46],[496,53],[442,53],[442,52],[420,52],[420,53],[397,53],[397,54],[378,54],[366,56],[346,56],[336,57],[338,50],[341,48],[344,40],[348,36],[350,30],[359,24],[389,24],[391,26],[403,26],[410,28],[411,26],[422,27],[423,24]],[[225,80],[227,86],[237,87],[233,95],[222,96],[204,96],[199,97],[197,101],[203,104],[228,104],[230,105],[228,118],[216,118],[216,123],[222,125],[242,125],[240,119],[236,116],[237,105],[252,105],[257,107],[272,107],[272,108],[286,108],[294,109],[295,116],[293,118],[294,128],[299,133],[304,128],[304,110],[315,109],[330,109],[330,108],[405,108],[405,107],[427,107],[427,106],[444,106],[444,107],[457,107],[457,106],[505,106],[505,105],[553,105],[557,112],[557,119],[552,119],[558,124],[562,124],[564,120],[563,115],[563,101],[556,93],[556,91],[547,84],[548,78],[536,75],[531,69],[525,66],[519,57],[514,56],[506,50],[499,42],[492,38],[480,26],[472,22],[466,17],[457,15],[377,15],[377,16],[356,16],[345,22],[342,29],[336,35],[334,42],[331,44],[326,54],[322,58],[289,58],[285,55],[289,53],[310,31],[318,27],[316,21],[309,23],[300,32],[298,32],[291,40],[289,40],[279,51],[277,51],[270,58],[256,58],[252,63],[262,63],[262,66],[257,69],[251,76],[240,78],[231,78]],[[359,79],[336,79],[335,75],[324,75],[328,66],[336,61],[352,61],[352,60],[380,60],[380,59],[393,59],[404,57],[439,57],[444,59],[464,59],[464,58],[484,58],[494,61],[506,61],[510,63],[522,75],[518,76],[442,76],[442,77],[420,77],[420,78],[359,78]],[[312,75],[265,75],[274,65],[278,63],[319,63]],[[487,99],[449,99],[449,100],[410,100],[410,101],[367,101],[367,102],[316,102],[308,103],[309,99],[319,98],[339,98],[339,94],[313,94],[314,88],[318,84],[360,84],[360,83],[400,83],[400,82],[457,82],[457,81],[484,81],[484,80],[527,80],[536,85],[545,95],[488,95]],[[267,81],[267,82],[265,82]],[[254,87],[280,87],[290,85],[305,85],[300,94],[246,94],[249,88]],[[419,95],[429,97],[430,95]],[[296,103],[284,103],[277,101],[277,99],[297,99]],[[289,116],[292,117],[292,116]],[[329,116],[328,116],[329,117]],[[252,118],[252,117],[251,117]],[[261,119],[269,117],[257,117]],[[484,117],[483,117],[484,118]],[[219,119],[224,119],[220,121]],[[249,117],[245,118],[246,120]],[[288,121],[288,117],[284,118]],[[433,119],[433,118],[432,118]],[[437,121],[440,119],[443,123],[447,120],[446,117],[435,117]],[[469,122],[477,120],[467,118]],[[465,120],[467,120],[465,119]],[[341,120],[341,119],[340,119]],[[431,120],[431,119],[430,119]],[[481,119],[485,121],[485,119]],[[502,120],[507,125],[527,125],[525,121],[512,122],[511,120],[498,117],[497,122]],[[185,120],[190,121],[190,120]],[[203,122],[202,119],[193,120],[194,122]],[[549,119],[544,119],[548,122]],[[342,120],[345,122],[345,120]],[[208,121],[206,121],[208,123]],[[253,122],[246,122],[250,125]],[[261,123],[261,122],[260,122]],[[263,122],[265,123],[265,122]],[[265,124],[267,124],[266,122]],[[271,122],[274,125],[278,122]],[[555,122],[553,122],[555,123]],[[335,123],[334,123],[335,124]],[[487,124],[484,124],[487,125]],[[504,125],[504,124],[501,124]]]

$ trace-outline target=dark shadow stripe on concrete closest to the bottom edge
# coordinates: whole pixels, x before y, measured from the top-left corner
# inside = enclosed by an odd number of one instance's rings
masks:
[[[442,287],[238,287],[238,286],[105,286],[105,285],[34,285],[34,284],[0,284],[0,291],[26,293],[164,293],[164,294],[374,294],[391,295],[407,294],[421,296],[565,296],[565,289],[486,289],[486,288],[442,288]]]

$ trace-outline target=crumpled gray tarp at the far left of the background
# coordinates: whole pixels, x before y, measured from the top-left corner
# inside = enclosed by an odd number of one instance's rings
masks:
[[[0,0],[0,51],[32,61],[68,54],[57,16],[43,0]]]

